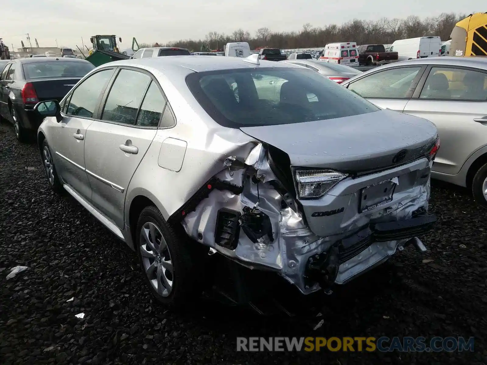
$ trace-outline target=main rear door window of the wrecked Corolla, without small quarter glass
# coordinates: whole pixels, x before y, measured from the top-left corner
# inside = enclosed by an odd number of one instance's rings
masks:
[[[108,94],[101,120],[134,125],[150,80],[145,73],[120,70]]]

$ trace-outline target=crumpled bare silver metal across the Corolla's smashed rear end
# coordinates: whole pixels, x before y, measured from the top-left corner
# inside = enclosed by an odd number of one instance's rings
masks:
[[[234,164],[228,166],[232,162]],[[422,185],[409,186],[402,190],[402,201],[393,201],[392,205],[386,204],[383,209],[372,210],[370,213],[349,215],[346,219],[348,224],[344,225],[343,221],[342,224],[335,223],[333,234],[319,237],[305,223],[302,213],[296,209],[296,202],[292,198],[282,197],[269,183],[277,181],[277,178],[270,169],[261,145],[254,148],[246,163],[253,164],[249,166],[238,162],[235,157],[229,158],[225,160],[226,167],[215,175],[225,182],[243,186],[242,194],[213,190],[195,211],[187,214],[183,226],[190,237],[249,268],[276,271],[304,294],[320,289],[318,284],[310,286],[305,282],[304,272],[310,256],[326,252],[338,240],[354,234],[360,227],[371,222],[409,219],[412,212],[419,207],[428,209],[429,178]],[[251,181],[253,176],[260,179],[259,191],[257,184]],[[283,199],[291,203],[291,206],[281,208]],[[241,231],[235,250],[216,245],[214,232],[218,210],[228,208],[242,212],[244,206],[252,208],[256,204],[271,220],[274,241],[268,245],[253,243]],[[397,240],[372,243],[360,254],[340,265],[336,283],[343,284],[384,262],[405,242],[406,240]]]

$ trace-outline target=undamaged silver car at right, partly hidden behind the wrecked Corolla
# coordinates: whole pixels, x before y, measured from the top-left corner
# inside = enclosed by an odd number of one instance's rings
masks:
[[[432,177],[487,207],[487,59],[428,57],[363,73],[343,86],[381,108],[431,120],[442,148]]]

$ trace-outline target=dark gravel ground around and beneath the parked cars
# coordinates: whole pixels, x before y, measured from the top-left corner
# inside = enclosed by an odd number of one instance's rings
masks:
[[[306,308],[262,317],[211,300],[189,313],[153,301],[131,251],[73,199],[54,195],[36,146],[15,142],[5,125],[0,169],[2,365],[486,363],[487,214],[464,189],[433,183],[439,223],[423,237],[426,255],[406,249],[329,297],[320,317]],[[6,280],[17,265],[29,269]],[[475,351],[236,351],[237,336],[350,335],[474,336]]]

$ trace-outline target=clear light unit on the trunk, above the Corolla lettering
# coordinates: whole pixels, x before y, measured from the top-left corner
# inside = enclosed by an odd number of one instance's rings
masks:
[[[330,191],[347,175],[333,170],[297,170],[299,198],[319,198]]]

